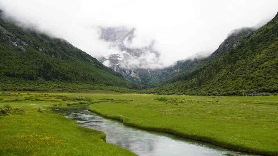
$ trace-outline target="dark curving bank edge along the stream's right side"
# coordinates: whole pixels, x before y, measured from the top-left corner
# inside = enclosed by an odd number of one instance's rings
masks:
[[[90,105],[91,106],[91,105]],[[248,153],[254,153],[254,154],[264,154],[264,155],[273,155],[273,156],[277,156],[277,153],[272,153],[269,151],[261,151],[261,150],[257,150],[257,149],[251,149],[249,147],[246,147],[244,145],[238,146],[235,144],[231,144],[229,142],[221,142],[221,141],[217,141],[214,138],[209,138],[209,137],[205,137],[205,136],[201,136],[201,135],[189,135],[189,134],[185,134],[182,132],[179,132],[177,130],[173,130],[173,129],[167,129],[167,128],[158,128],[158,127],[146,127],[146,126],[142,126],[142,125],[138,125],[136,123],[132,123],[129,122],[129,119],[126,117],[123,117],[121,115],[107,115],[104,114],[100,111],[96,111],[93,109],[88,108],[89,111],[96,113],[102,117],[105,117],[107,119],[112,119],[112,120],[117,120],[117,121],[121,121],[124,125],[128,125],[128,126],[132,126],[132,127],[136,127],[142,130],[151,130],[151,131],[157,131],[157,132],[164,132],[164,133],[169,133],[172,135],[176,135],[179,137],[184,137],[184,138],[188,138],[188,139],[193,139],[193,140],[197,140],[197,141],[204,141],[204,142],[208,142],[217,146],[221,146],[221,147],[225,147],[228,149],[235,149],[235,150],[239,150],[242,152],[248,152]]]

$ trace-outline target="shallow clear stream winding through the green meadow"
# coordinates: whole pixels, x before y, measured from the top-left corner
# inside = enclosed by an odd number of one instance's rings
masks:
[[[116,144],[140,156],[247,156],[255,155],[225,149],[213,144],[176,137],[174,135],[139,130],[119,121],[103,118],[87,107],[55,109],[75,120],[78,125],[104,132],[106,142]]]

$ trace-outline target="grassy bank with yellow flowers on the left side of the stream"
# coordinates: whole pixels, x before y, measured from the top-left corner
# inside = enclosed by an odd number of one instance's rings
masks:
[[[71,95],[0,93],[0,155],[135,155],[51,111],[49,106],[101,101]]]

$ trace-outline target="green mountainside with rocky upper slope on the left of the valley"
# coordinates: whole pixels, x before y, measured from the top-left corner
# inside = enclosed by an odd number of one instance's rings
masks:
[[[67,83],[72,86],[72,83],[82,83],[88,89],[96,85],[134,87],[121,74],[66,40],[50,37],[32,28],[19,27],[15,21],[2,15],[1,11],[0,90],[32,88],[22,87],[22,82],[29,82],[31,86],[42,83],[52,86]],[[41,87],[38,85],[34,88],[40,90]]]

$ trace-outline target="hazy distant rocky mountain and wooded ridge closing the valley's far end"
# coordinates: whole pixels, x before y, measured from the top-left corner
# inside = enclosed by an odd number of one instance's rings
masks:
[[[110,43],[110,48],[116,49],[117,52],[98,60],[115,72],[121,73],[130,82],[137,84],[155,84],[161,80],[168,80],[186,69],[191,69],[196,61],[204,56],[198,53],[188,60],[178,61],[167,68],[150,69],[145,57],[153,54],[154,61],[158,61],[160,56],[159,52],[152,47],[155,41],[151,41],[148,46],[134,48],[128,46],[128,43],[132,43],[135,38],[134,28],[100,27],[100,30],[100,39]]]

